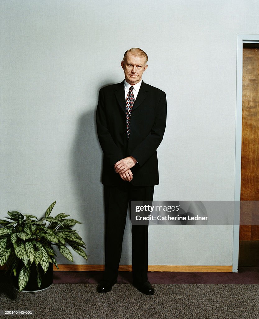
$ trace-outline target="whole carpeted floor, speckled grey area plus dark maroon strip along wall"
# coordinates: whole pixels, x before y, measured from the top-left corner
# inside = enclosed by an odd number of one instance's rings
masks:
[[[114,285],[106,294],[96,292],[101,272],[55,271],[54,284],[37,293],[18,293],[2,273],[0,310],[33,310],[34,315],[1,317],[258,319],[258,272],[258,267],[246,267],[239,273],[150,272],[149,280],[155,287],[153,296],[143,295],[129,283],[130,272],[120,272],[121,284]]]

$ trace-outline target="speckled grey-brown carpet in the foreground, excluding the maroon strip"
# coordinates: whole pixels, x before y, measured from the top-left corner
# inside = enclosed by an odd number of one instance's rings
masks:
[[[258,319],[257,285],[155,284],[146,296],[130,284],[105,294],[96,284],[53,284],[37,293],[1,293],[2,310],[33,310],[37,319]],[[4,316],[3,316],[4,317]],[[8,315],[6,317],[9,317]]]

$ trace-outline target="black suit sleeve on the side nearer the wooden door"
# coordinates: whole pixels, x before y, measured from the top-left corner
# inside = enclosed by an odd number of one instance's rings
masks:
[[[166,112],[166,95],[162,92],[156,108],[155,122],[150,133],[130,154],[138,161],[140,166],[151,157],[162,142],[166,126]]]

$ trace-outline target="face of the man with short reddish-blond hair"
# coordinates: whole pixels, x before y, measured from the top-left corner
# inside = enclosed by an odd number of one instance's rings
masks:
[[[137,84],[142,78],[143,72],[147,69],[146,59],[140,56],[127,54],[126,61],[121,61],[126,82],[131,85]]]

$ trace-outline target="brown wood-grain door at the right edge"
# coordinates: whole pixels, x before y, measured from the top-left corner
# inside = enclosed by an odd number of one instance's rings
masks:
[[[243,48],[241,201],[259,201],[259,48],[253,47]],[[239,248],[239,266],[259,265],[258,225],[240,225]]]

